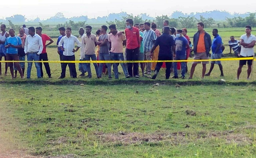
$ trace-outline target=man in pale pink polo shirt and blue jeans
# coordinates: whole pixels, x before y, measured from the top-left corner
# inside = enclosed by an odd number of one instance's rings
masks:
[[[111,59],[114,61],[118,61],[118,60],[124,61],[123,46],[126,44],[125,36],[123,33],[120,36],[118,35],[119,31],[116,30],[115,24],[110,25],[109,29],[111,32],[108,38],[108,41],[111,45],[111,50],[110,50]],[[125,77],[129,78],[130,76],[128,75],[128,71],[125,63],[120,63],[120,64],[123,68]],[[119,79],[118,63],[113,63],[113,67],[114,67],[115,79]]]

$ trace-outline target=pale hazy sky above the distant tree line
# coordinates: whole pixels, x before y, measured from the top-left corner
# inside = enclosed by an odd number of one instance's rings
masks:
[[[14,14],[25,15],[28,19],[39,17],[46,20],[56,13],[61,12],[66,18],[87,15],[88,18],[107,16],[108,13],[120,13],[126,11],[128,14],[138,15],[147,13],[151,17],[171,15],[173,11],[179,10],[183,13],[196,13],[212,10],[226,10],[233,14],[256,12],[256,1],[240,0],[12,0],[1,2],[0,18],[10,17]],[[250,4],[248,4],[248,3]]]

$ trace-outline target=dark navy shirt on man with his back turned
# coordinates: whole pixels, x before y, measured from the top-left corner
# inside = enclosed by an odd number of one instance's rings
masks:
[[[167,33],[163,33],[155,41],[155,46],[159,45],[158,56],[172,56],[172,46],[175,46],[173,37]]]

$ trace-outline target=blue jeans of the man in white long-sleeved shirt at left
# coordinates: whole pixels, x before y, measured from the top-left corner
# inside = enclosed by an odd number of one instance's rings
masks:
[[[33,61],[33,60],[34,61],[39,61],[39,55],[37,55],[37,53],[28,53],[27,60],[28,61]],[[32,64],[33,63],[28,62],[27,78],[30,78]],[[41,78],[40,64],[39,63],[35,63],[35,66],[36,66],[37,78]]]

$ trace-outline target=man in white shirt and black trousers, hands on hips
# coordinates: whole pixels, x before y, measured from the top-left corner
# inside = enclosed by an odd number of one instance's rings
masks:
[[[64,43],[62,47],[62,43]],[[77,44],[76,50],[74,49],[75,43]],[[63,61],[74,61],[75,60],[75,52],[79,50],[81,47],[80,41],[77,39],[76,36],[71,34],[71,28],[66,29],[66,36],[62,37],[59,45],[60,49],[63,51],[62,60]],[[67,65],[69,69],[72,71],[73,78],[77,78],[77,71],[75,63],[62,63],[61,67],[61,75],[59,79],[65,78],[66,76],[66,68]]]

